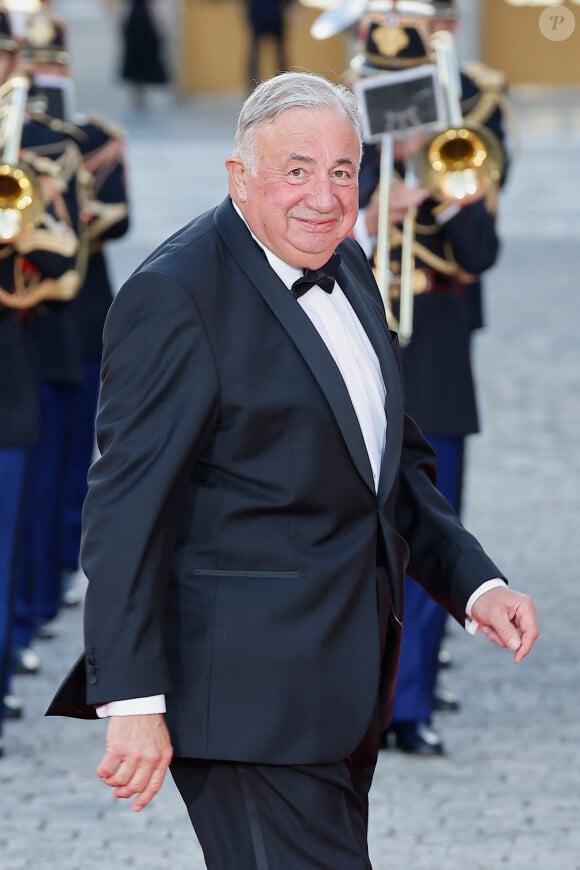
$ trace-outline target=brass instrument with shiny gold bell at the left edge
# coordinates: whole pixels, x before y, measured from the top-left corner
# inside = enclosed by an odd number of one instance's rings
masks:
[[[14,75],[0,87],[0,242],[35,227],[44,213],[36,174],[20,162],[29,81]]]

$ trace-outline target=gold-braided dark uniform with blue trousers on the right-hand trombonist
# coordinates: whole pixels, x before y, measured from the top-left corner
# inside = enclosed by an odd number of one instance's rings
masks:
[[[462,115],[468,124],[484,125],[494,134],[503,152],[505,178],[503,80],[481,64],[472,65],[471,73],[461,73]],[[368,145],[360,173],[362,209],[378,186],[379,170],[379,149]],[[395,166],[395,171],[404,177],[403,166]],[[471,336],[483,324],[480,276],[494,265],[500,250],[496,197],[494,184],[485,197],[466,205],[427,198],[417,208],[412,245],[413,333],[401,351],[406,408],[435,451],[438,488],[458,512],[465,437],[479,431]],[[402,227],[391,226],[389,258],[395,282],[401,272],[401,246]],[[397,289],[392,295],[397,295]],[[397,314],[396,298],[393,309]],[[398,745],[407,751],[442,751],[435,732],[431,731],[426,740],[417,738],[416,724],[429,723],[433,712],[445,618],[445,611],[407,577],[391,720]],[[408,740],[407,734],[411,735]]]

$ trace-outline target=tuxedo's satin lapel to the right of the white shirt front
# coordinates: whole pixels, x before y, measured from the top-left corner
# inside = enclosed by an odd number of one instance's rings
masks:
[[[378,495],[380,497],[381,493],[388,493],[392,488],[401,455],[403,394],[399,368],[391,346],[387,322],[378,302],[375,302],[369,293],[360,289],[360,280],[344,259],[338,270],[338,282],[370,339],[385,382],[387,442],[379,476]]]

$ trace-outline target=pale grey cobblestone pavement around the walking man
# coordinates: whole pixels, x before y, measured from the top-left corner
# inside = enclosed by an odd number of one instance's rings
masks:
[[[105,4],[53,5],[70,21],[79,108],[128,133],[134,222],[110,246],[119,283],[225,193],[239,100],[160,93],[137,115],[114,79]],[[483,433],[469,447],[466,523],[535,597],[542,637],[515,667],[507,651],[451,627],[446,680],[462,710],[437,717],[445,758],[381,755],[370,819],[375,870],[580,870],[579,96],[574,88],[513,94],[519,145],[500,216],[504,251],[487,279],[488,328],[475,347]],[[134,815],[94,776],[104,723],[42,718],[80,652],[79,609],[63,612],[57,627],[56,639],[37,644],[42,673],[15,685],[26,718],[7,724],[0,761],[0,867],[203,868],[172,783]]]

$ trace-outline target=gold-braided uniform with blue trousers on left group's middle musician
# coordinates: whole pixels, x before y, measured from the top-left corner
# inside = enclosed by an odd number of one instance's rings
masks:
[[[25,338],[37,380],[41,434],[29,450],[23,546],[18,560],[14,645],[27,648],[36,629],[54,619],[60,598],[59,501],[62,469],[72,437],[71,407],[83,383],[82,346],[68,297],[80,284],[86,245],[81,218],[82,161],[70,133],[50,119],[28,119],[22,131],[25,158],[44,167],[58,188],[45,225],[30,234],[25,256],[14,269],[28,281],[48,276],[62,282],[65,301],[46,299],[24,320]],[[30,278],[32,276],[32,278]],[[50,508],[48,508],[50,506]]]

